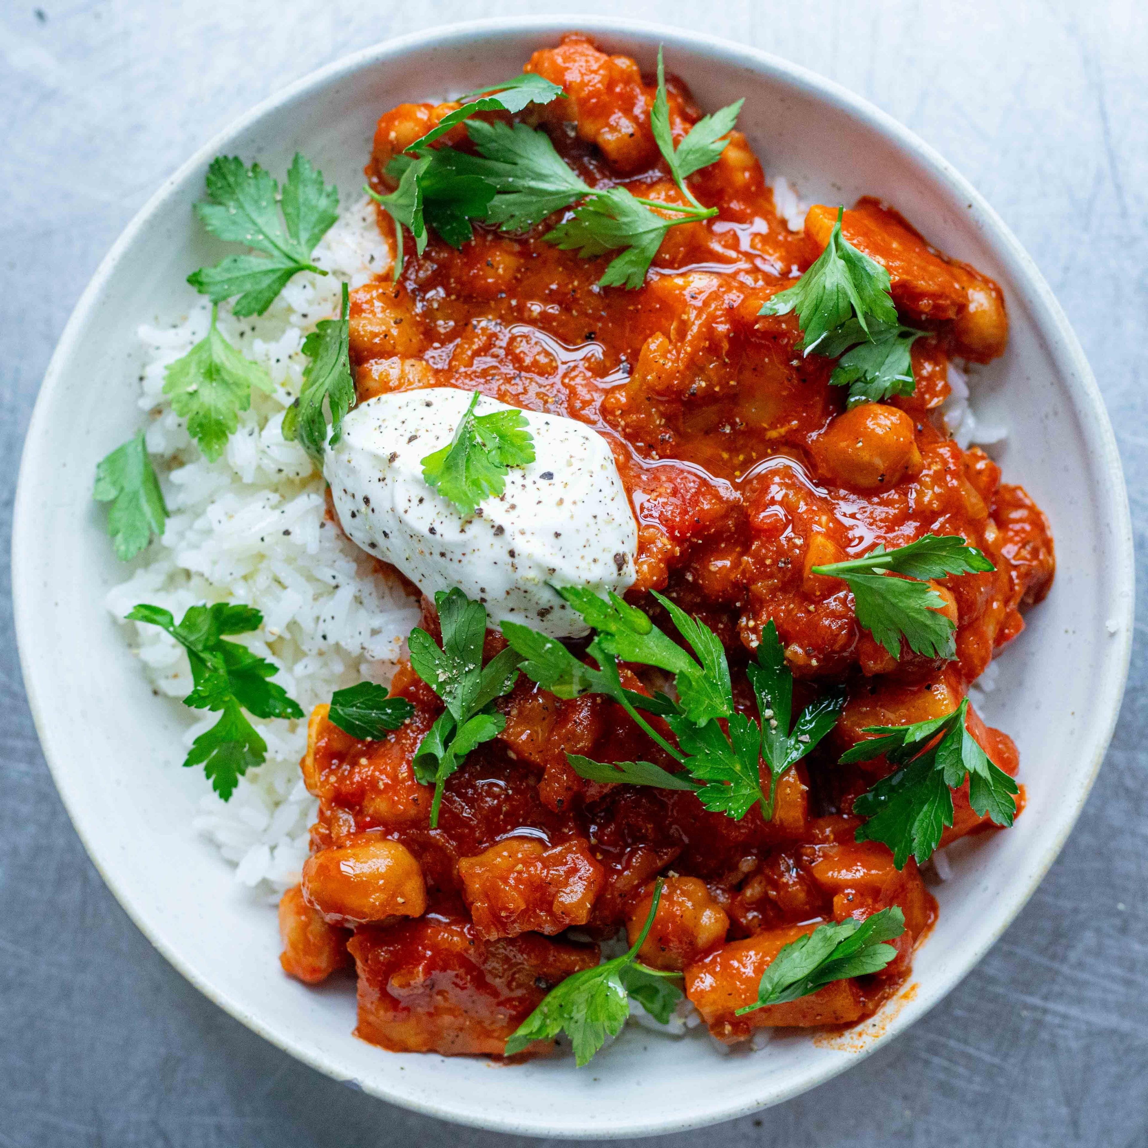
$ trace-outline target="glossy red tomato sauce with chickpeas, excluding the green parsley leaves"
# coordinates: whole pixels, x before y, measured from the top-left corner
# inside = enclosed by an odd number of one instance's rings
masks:
[[[568,99],[523,118],[545,126],[587,183],[685,202],[650,131],[654,87],[634,61],[567,37],[536,52],[527,70],[561,84]],[[383,174],[391,156],[453,107],[402,104],[381,117],[367,166],[379,191],[393,187]],[[669,110],[677,139],[701,115],[673,78]],[[468,146],[460,129],[444,142]],[[884,845],[854,840],[852,804],[889,763],[836,762],[866,726],[951,713],[1021,631],[1021,608],[1052,582],[1040,510],[1001,482],[987,455],[962,450],[940,417],[949,360],[987,362],[1003,350],[1002,293],[892,208],[863,199],[846,210],[846,239],[890,271],[902,321],[929,332],[913,348],[914,395],[846,411],[844,388],[829,383],[832,360],[801,354],[794,317],[758,313],[817,257],[836,208],[812,208],[805,228],[791,231],[737,131],[690,187],[718,216],[670,228],[636,290],[599,287],[610,257],[560,251],[542,240],[545,225],[521,236],[478,226],[460,250],[432,235],[421,256],[409,251],[397,282],[380,278],[352,293],[359,400],[453,386],[591,425],[611,444],[639,526],[630,600],[665,625],[646,594],[657,589],[711,626],[746,708],[744,666],[769,620],[798,680],[797,704],[829,682],[844,683],[848,701],[835,734],[783,778],[774,817],[754,808],[734,821],[691,793],[577,777],[567,752],[667,759],[608,699],[563,701],[523,676],[499,703],[501,737],[447,782],[435,829],[411,758],[442,704],[413,670],[400,668],[393,692],[416,715],[386,740],[357,742],[320,707],[303,761],[320,801],[312,848],[349,850],[342,869],[351,866],[359,884],[354,895],[327,887],[342,870],[316,867],[302,895],[285,898],[284,967],[321,979],[347,962],[352,936],[358,1032],[383,1047],[501,1053],[546,987],[596,963],[597,943],[622,928],[636,934],[658,875],[667,882],[652,934],[660,939],[643,960],[683,971],[711,1031],[730,1041],[755,1025],[871,1015],[908,976],[913,946],[934,920],[912,860],[898,870]],[[390,228],[389,217],[380,225]],[[845,584],[813,573],[929,533],[962,535],[996,567],[938,584],[957,627],[948,662],[907,649],[894,659],[858,626]],[[433,607],[425,613],[436,634]],[[487,654],[502,644],[488,634]],[[641,674],[630,685],[649,689]],[[971,711],[968,728],[1016,773],[1007,735]],[[945,844],[987,828],[967,789],[955,806]],[[402,907],[379,901],[389,907],[382,920],[359,895],[372,872],[408,882]],[[354,910],[366,918],[348,915],[358,905],[369,906]],[[412,905],[425,912],[409,913]],[[883,972],[735,1016],[783,944],[891,905],[907,929]]]

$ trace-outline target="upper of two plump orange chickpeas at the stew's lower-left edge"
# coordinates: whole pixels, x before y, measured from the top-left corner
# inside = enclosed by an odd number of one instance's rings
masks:
[[[334,924],[419,917],[427,907],[422,868],[410,851],[367,833],[308,858],[303,897]]]

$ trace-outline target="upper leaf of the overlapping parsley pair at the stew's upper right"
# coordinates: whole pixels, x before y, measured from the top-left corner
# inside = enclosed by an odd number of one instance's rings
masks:
[[[789,315],[797,311],[808,355],[822,339],[850,319],[856,319],[868,335],[869,325],[895,324],[897,308],[889,293],[889,272],[863,251],[859,251],[841,234],[844,209],[838,209],[837,223],[825,249],[816,262],[788,290],[768,300],[759,315]]]

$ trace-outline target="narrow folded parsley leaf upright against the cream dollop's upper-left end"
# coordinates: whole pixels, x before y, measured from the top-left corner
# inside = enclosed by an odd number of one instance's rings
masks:
[[[343,284],[342,308],[338,319],[323,319],[303,340],[303,354],[310,362],[303,369],[298,398],[284,413],[282,436],[297,439],[316,461],[323,461],[328,442],[342,435],[343,417],[355,405],[355,379],[350,360],[350,293]],[[327,436],[327,412],[331,435]]]

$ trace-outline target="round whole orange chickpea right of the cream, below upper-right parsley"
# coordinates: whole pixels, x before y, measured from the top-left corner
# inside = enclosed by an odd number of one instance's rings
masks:
[[[884,403],[862,403],[838,414],[815,450],[833,479],[860,490],[889,489],[921,471],[913,419]]]

